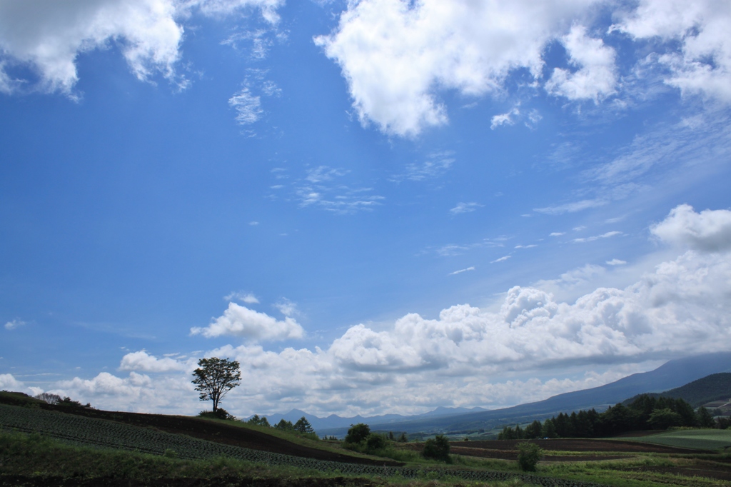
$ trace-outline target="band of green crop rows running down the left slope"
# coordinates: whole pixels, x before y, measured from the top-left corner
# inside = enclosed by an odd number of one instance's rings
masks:
[[[320,472],[341,472],[348,475],[381,475],[416,478],[424,475],[460,477],[464,480],[490,481],[521,477],[540,486],[591,487],[596,484],[579,483],[534,475],[515,475],[508,472],[488,472],[461,469],[439,469],[425,472],[422,469],[404,467],[374,467],[347,464],[336,461],[315,460],[282,455],[260,450],[250,450],[232,445],[208,442],[180,434],[164,433],[153,429],[129,426],[109,420],[84,418],[61,412],[0,404],[0,428],[26,433],[37,432],[72,445],[118,448],[162,455],[174,450],[179,458],[197,459],[226,456],[270,466],[287,465]]]

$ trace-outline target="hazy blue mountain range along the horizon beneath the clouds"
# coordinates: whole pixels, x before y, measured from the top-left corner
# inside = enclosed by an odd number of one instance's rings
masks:
[[[525,423],[534,419],[550,418],[559,412],[570,413],[592,407],[603,410],[638,394],[660,393],[680,388],[689,382],[721,372],[731,372],[731,352],[670,360],[653,371],[632,374],[597,388],[576,390],[550,397],[544,401],[504,409],[438,407],[422,415],[373,417],[358,415],[352,418],[341,418],[337,415],[318,418],[298,409],[292,409],[285,415],[270,415],[267,416],[267,419],[274,425],[281,419],[294,423],[304,416],[321,436],[334,435],[337,437],[343,437],[349,426],[355,423],[366,423],[375,431],[405,431],[406,433],[489,430],[506,423]]]

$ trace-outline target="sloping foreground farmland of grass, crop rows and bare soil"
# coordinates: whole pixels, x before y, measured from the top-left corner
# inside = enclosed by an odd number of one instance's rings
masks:
[[[411,454],[403,464],[239,421],[56,406],[0,393],[0,487],[669,487],[689,485],[689,475],[694,486],[719,487],[731,478],[727,455],[717,451],[540,441],[547,456],[537,475],[520,472],[516,442],[455,442],[452,464],[420,458],[423,444],[394,444]]]

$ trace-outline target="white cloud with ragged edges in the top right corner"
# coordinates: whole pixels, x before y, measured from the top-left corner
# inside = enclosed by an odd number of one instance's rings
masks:
[[[731,102],[731,4],[715,0],[640,0],[613,29],[660,41],[665,80],[681,91]],[[680,49],[673,43],[679,42]]]

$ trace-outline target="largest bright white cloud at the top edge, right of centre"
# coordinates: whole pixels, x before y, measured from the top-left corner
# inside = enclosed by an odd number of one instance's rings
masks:
[[[336,31],[315,42],[340,65],[363,124],[417,135],[447,123],[440,90],[501,91],[521,68],[539,78],[546,43],[594,3],[363,0],[349,4]]]

